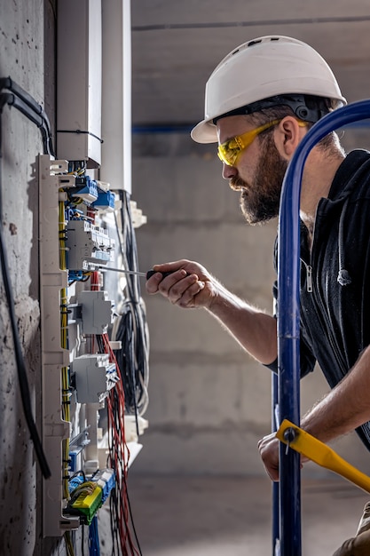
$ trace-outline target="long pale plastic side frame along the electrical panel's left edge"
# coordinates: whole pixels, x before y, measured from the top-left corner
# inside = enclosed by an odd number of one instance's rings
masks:
[[[51,478],[43,480],[43,536],[62,536],[80,525],[77,517],[62,514],[62,441],[69,438],[70,424],[62,418],[60,373],[69,353],[60,342],[60,290],[67,288],[67,271],[59,268],[60,176],[54,171],[67,168],[64,161],[40,155],[38,170],[43,449],[51,468]]]

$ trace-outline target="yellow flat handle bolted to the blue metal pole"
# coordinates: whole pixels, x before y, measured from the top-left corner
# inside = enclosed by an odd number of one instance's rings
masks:
[[[358,471],[356,467],[353,467],[345,459],[338,456],[334,449],[329,448],[324,442],[318,441],[317,438],[306,433],[299,426],[294,425],[294,423],[284,419],[279,426],[276,436],[279,438],[279,441],[284,442],[290,448],[295,449],[295,451],[303,456],[321,465],[321,467],[326,467],[330,471],[342,475],[342,477],[353,482],[359,488],[370,492],[370,477]]]

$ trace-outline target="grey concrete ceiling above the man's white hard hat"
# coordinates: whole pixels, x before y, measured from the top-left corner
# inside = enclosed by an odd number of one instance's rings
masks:
[[[294,36],[327,60],[353,102],[370,98],[369,0],[135,0],[134,126],[193,125],[204,85],[234,47],[264,35]]]

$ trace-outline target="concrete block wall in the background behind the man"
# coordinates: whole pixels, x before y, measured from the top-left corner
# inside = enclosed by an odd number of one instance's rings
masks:
[[[239,195],[221,178],[213,146],[191,143],[177,134],[134,138],[133,152],[145,153],[133,167],[133,198],[148,218],[137,230],[140,266],[197,260],[230,290],[271,311],[277,222],[248,226]],[[144,297],[151,338],[149,429],[132,473],[264,473],[256,443],[271,427],[270,371],[203,310]],[[303,412],[327,389],[319,369],[306,377]],[[335,447],[366,470],[368,454],[356,434]],[[307,473],[322,471],[308,465]]]

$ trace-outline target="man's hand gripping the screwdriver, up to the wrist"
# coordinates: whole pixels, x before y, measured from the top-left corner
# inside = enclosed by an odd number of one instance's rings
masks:
[[[209,308],[216,296],[211,275],[204,266],[186,259],[154,265],[156,273],[146,282],[150,294],[161,293],[173,305]],[[163,278],[161,273],[171,273]]]

